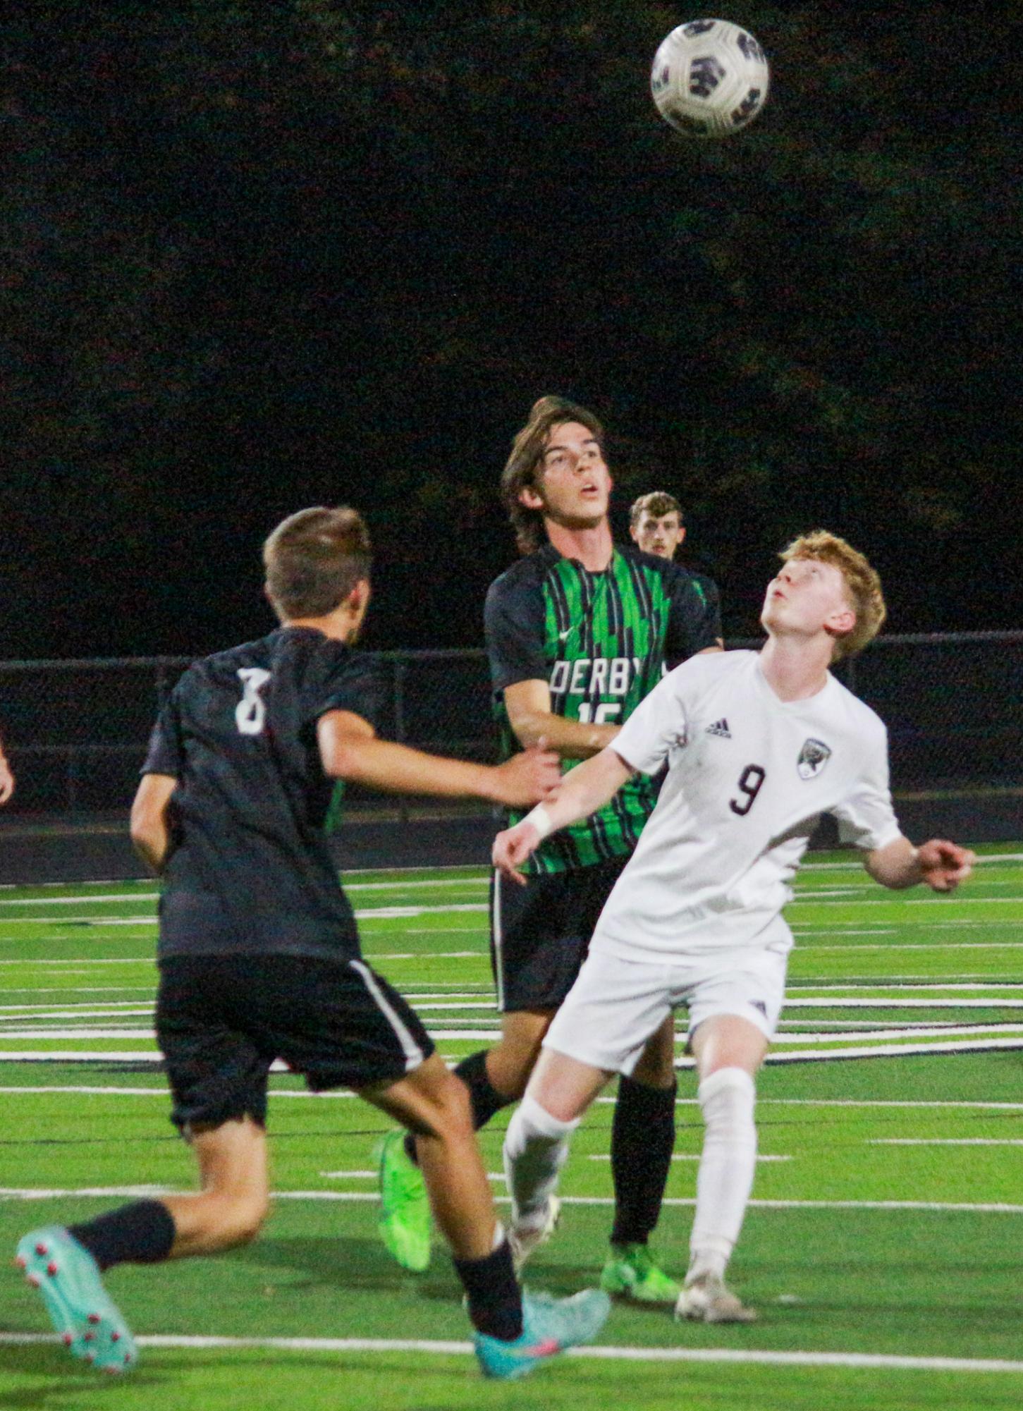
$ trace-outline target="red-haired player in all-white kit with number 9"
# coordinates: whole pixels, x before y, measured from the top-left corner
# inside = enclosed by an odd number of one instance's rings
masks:
[[[676,1316],[748,1322],[724,1283],[753,1182],[753,1077],[775,1033],[793,940],[790,880],[823,813],[888,888],[951,892],[974,854],[914,848],[892,811],[888,737],[828,666],[885,619],[866,559],[824,531],[796,539],[768,586],[759,652],[694,656],[636,707],[611,745],[498,834],[509,878],[540,840],[667,761],[660,799],[611,892],[590,952],[543,1040],[505,1139],[515,1228],[546,1219],[569,1137],[612,1074],[679,1005],[700,1078],[704,1144],[690,1266]]]

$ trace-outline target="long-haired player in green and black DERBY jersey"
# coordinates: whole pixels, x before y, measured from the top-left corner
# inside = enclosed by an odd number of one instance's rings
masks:
[[[536,402],[515,437],[501,488],[525,555],[491,584],[485,607],[505,752],[545,739],[569,769],[614,739],[666,667],[720,649],[717,590],[710,580],[697,588],[666,559],[612,542],[604,430],[581,406],[556,396]],[[501,1040],[456,1068],[477,1127],[522,1096],[655,801],[656,785],[636,775],[610,807],[538,849],[525,888],[495,876],[491,944]],[[642,1302],[679,1297],[677,1283],[648,1247],[674,1146],[673,1064],[669,1017],[619,1084],[611,1134],[615,1219],[601,1284]],[[425,1267],[426,1202],[418,1198],[409,1156],[397,1141],[385,1151],[381,1228],[399,1259],[402,1247],[418,1254],[406,1267]],[[519,1263],[550,1235],[556,1216],[552,1202],[543,1225],[511,1232]]]

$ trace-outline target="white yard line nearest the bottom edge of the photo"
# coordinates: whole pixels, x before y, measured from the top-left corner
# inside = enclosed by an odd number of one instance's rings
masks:
[[[140,1348],[188,1348],[195,1352],[217,1349],[258,1352],[323,1352],[353,1353],[411,1352],[418,1356],[468,1357],[471,1342],[440,1342],[415,1338],[222,1338],[214,1333],[178,1335],[151,1333],[135,1338]],[[0,1345],[30,1346],[56,1343],[54,1333],[1,1332]],[[569,1357],[591,1362],[704,1362],[738,1363],[783,1367],[852,1367],[861,1370],[890,1369],[895,1371],[962,1371],[976,1374],[1023,1373],[1023,1362],[999,1357],[910,1357],[886,1352],[759,1352],[752,1348],[573,1348]]]

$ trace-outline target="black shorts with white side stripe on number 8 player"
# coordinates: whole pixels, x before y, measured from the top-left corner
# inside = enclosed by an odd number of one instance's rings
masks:
[[[433,1053],[422,1020],[361,959],[168,955],[157,1041],[178,1127],[267,1120],[275,1058],[313,1092],[397,1082]]]

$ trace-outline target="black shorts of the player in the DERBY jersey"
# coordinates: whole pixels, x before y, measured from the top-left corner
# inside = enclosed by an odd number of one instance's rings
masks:
[[[590,948],[590,937],[628,856],[529,876],[525,886],[494,873],[490,957],[502,1013],[557,1009]]]

